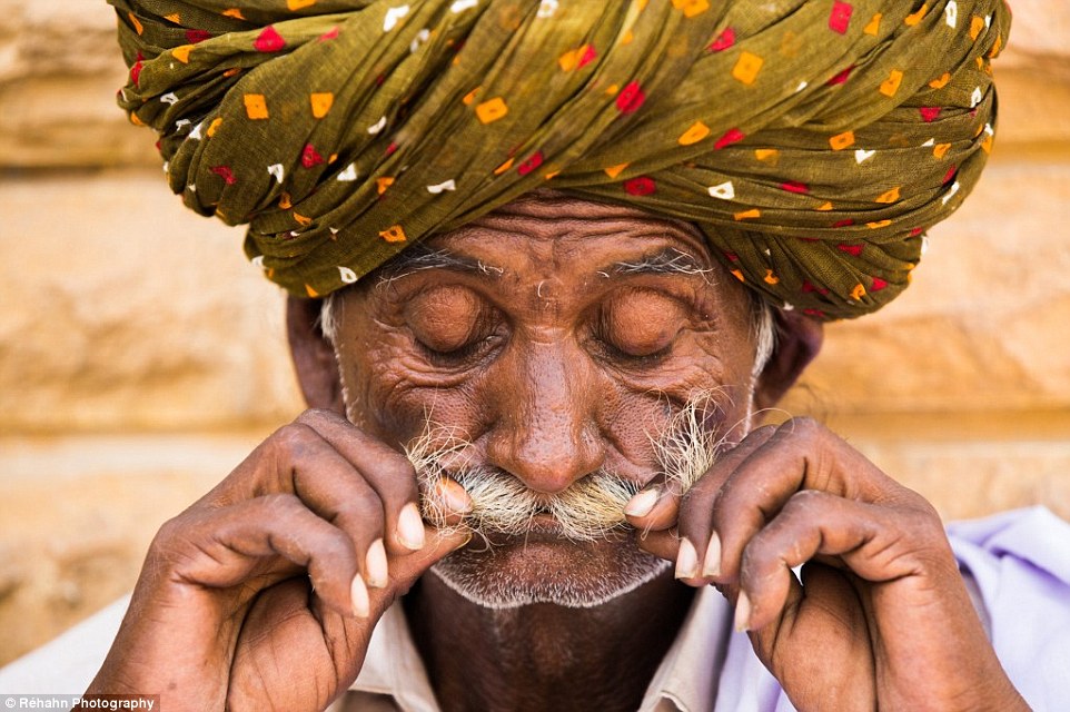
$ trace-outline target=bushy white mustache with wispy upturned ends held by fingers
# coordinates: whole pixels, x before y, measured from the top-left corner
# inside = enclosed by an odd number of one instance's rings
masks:
[[[703,423],[713,403],[709,394],[692,399],[651,443],[666,482],[675,482],[686,492],[713,465],[723,441],[716,441]],[[523,536],[538,514],[555,520],[559,535],[574,542],[605,538],[628,526],[624,507],[643,485],[600,469],[573,483],[567,490],[545,495],[529,490],[513,475],[480,465],[447,465],[463,456],[467,439],[445,426],[428,424],[424,434],[407,448],[406,455],[416,468],[424,518],[433,526],[449,528],[447,512],[435,492],[442,477],[455,479],[472,497],[473,508],[463,526],[475,534]],[[455,516],[455,515],[454,515]]]

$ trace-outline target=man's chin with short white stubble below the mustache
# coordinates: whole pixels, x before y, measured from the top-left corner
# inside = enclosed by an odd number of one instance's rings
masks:
[[[598,606],[656,578],[670,562],[640,551],[632,536],[613,533],[595,542],[531,534],[476,540],[432,567],[432,573],[468,601],[488,609],[551,603]]]

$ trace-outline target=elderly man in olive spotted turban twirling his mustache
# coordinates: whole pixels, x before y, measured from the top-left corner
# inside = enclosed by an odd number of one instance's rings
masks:
[[[1067,625],[1066,580],[759,427],[975,182],[1001,2],[112,3],[121,103],[249,222],[313,409],[160,531],[90,692],[1053,703],[1000,587]]]

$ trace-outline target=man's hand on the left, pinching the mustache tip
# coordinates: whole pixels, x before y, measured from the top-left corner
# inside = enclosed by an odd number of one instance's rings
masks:
[[[459,522],[467,495],[439,495]],[[89,693],[323,710],[356,679],[383,612],[468,540],[425,526],[418,497],[404,455],[304,413],[160,528]]]

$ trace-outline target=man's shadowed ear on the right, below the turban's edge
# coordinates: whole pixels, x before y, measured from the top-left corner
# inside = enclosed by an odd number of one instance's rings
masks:
[[[759,409],[771,408],[780,402],[821,350],[824,340],[821,322],[783,309],[775,309],[774,315],[776,340],[773,354],[754,389],[754,405]]]

